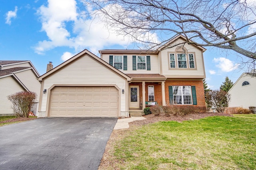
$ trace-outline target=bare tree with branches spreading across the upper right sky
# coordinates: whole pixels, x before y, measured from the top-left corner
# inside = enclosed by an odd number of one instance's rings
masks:
[[[230,49],[256,60],[252,0],[88,1],[84,4],[93,9],[91,16],[98,14],[108,28],[143,42],[146,48],[157,48],[182,34],[188,44]]]

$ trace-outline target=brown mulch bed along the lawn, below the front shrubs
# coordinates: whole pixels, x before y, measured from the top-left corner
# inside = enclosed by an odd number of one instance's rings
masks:
[[[178,121],[182,122],[184,120],[195,120],[195,119],[201,119],[208,116],[232,116],[230,114],[225,113],[193,113],[193,114],[186,114],[185,116],[178,116],[178,115],[171,115],[171,116],[155,116],[154,114],[148,114],[144,115],[143,117],[146,118],[144,120],[136,120],[133,122],[130,122],[130,126],[140,126],[144,124],[159,122],[159,121]]]

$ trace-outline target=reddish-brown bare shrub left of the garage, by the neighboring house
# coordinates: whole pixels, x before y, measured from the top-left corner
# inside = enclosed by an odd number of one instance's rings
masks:
[[[8,96],[12,102],[13,112],[17,117],[28,118],[28,113],[31,110],[32,104],[36,99],[35,92],[18,92]]]

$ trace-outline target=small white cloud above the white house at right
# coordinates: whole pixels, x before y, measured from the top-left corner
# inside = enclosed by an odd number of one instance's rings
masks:
[[[217,63],[216,67],[220,68],[222,72],[231,72],[238,68],[238,64],[224,57],[214,58],[213,61]]]

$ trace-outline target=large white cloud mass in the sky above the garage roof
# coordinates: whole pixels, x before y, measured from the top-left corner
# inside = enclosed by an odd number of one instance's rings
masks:
[[[42,5],[37,11],[42,22],[42,31],[46,32],[48,40],[38,42],[35,52],[43,54],[58,46],[68,46],[76,52],[87,48],[94,54],[104,46],[120,45],[127,48],[131,37],[117,32],[116,26],[105,25],[102,20],[106,18],[98,11],[90,11],[89,7],[87,10],[91,18],[84,20],[77,13],[75,0],[64,0],[61,3],[48,0],[48,6]],[[70,30],[66,28],[67,22],[72,22]],[[148,36],[150,40],[158,40],[156,34]]]

